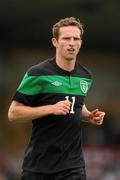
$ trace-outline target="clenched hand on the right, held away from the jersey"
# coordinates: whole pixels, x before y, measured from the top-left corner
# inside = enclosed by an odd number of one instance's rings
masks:
[[[103,123],[105,112],[95,109],[90,112],[88,121],[94,125],[101,125]]]

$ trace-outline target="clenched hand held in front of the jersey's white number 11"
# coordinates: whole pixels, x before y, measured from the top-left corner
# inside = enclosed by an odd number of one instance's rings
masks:
[[[52,106],[54,115],[66,115],[70,111],[71,102],[68,100],[59,101]]]

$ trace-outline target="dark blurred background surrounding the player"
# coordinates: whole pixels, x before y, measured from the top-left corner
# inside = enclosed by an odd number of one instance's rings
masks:
[[[93,72],[86,104],[106,112],[104,124],[83,124],[88,180],[120,180],[120,1],[0,1],[0,180],[19,180],[30,123],[10,123],[7,112],[26,70],[54,56],[51,29],[75,16],[84,24],[78,60]]]

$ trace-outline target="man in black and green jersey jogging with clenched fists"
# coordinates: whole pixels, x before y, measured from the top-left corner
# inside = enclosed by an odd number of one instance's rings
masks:
[[[74,17],[53,26],[55,58],[31,67],[10,105],[10,121],[32,121],[22,180],[85,180],[81,123],[101,125],[105,113],[90,112],[84,99],[91,73],[76,61],[83,27]]]

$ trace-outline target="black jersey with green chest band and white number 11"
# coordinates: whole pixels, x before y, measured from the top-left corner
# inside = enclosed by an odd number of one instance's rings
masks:
[[[68,99],[71,109],[67,115],[48,115],[32,121],[23,162],[25,171],[51,173],[84,166],[81,109],[91,84],[91,73],[78,62],[71,72],[58,67],[54,58],[27,71],[14,100],[37,107]]]

